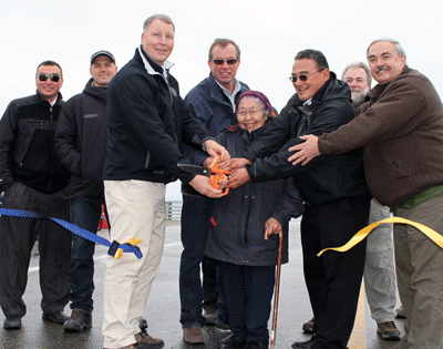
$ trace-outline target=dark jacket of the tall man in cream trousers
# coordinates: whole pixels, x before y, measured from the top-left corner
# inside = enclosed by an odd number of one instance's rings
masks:
[[[190,117],[177,81],[167,76],[166,81],[162,68],[140,48],[112,79],[104,179],[188,183],[194,178],[177,167],[188,161],[181,144],[202,146],[209,135]]]

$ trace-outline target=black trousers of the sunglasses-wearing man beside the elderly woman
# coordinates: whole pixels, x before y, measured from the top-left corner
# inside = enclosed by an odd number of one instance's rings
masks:
[[[365,259],[365,240],[346,253],[326,252],[344,245],[368,225],[370,199],[343,198],[306,206],[301,219],[303,270],[316,318],[312,348],[347,348],[356,319]]]

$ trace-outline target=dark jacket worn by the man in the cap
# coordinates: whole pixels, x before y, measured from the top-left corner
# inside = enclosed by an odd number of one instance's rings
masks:
[[[86,83],[63,106],[55,130],[55,152],[71,172],[69,198],[103,197],[106,152],[106,88]]]

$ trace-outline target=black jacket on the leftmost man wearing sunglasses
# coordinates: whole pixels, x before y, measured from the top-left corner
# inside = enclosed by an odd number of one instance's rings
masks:
[[[14,181],[44,194],[63,189],[69,179],[55,156],[54,133],[64,102],[54,106],[39,93],[13,100],[0,122],[0,192]]]

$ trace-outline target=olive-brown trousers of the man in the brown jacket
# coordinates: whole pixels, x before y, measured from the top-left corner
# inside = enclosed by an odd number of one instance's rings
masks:
[[[443,234],[443,195],[395,216]],[[396,279],[406,315],[405,348],[441,349],[443,333],[443,249],[416,228],[394,224]]]

